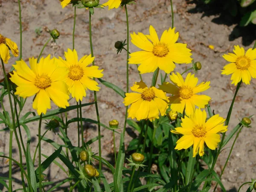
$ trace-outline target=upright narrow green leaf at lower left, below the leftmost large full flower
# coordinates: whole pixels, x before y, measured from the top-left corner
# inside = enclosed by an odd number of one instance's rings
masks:
[[[30,155],[30,148],[29,148],[29,143],[27,143],[27,148],[26,148],[26,166],[28,170],[28,177],[32,186],[32,189],[34,192],[37,191],[36,188],[36,177],[35,177],[35,169],[34,169],[34,164]],[[41,177],[41,175],[39,175]]]

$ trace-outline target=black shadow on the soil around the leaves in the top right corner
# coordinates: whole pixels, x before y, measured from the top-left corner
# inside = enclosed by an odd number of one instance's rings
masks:
[[[213,23],[219,25],[236,25],[229,35],[229,41],[242,37],[242,45],[248,46],[256,40],[256,25],[249,23],[247,26],[240,26],[243,15],[250,9],[256,9],[256,2],[247,8],[241,8],[239,3],[233,0],[213,0],[205,4],[203,0],[186,0],[187,4],[196,4],[196,7],[188,10],[189,13],[203,13],[201,18],[215,15]]]

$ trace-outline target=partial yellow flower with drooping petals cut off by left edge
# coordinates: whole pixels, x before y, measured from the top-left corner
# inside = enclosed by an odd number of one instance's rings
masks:
[[[11,39],[4,37],[0,34],[0,57],[3,59],[5,64],[8,63],[10,57],[9,49],[11,49],[12,54],[17,57],[19,55],[18,46]]]

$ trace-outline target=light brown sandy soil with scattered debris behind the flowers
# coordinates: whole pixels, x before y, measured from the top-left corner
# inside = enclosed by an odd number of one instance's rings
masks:
[[[67,48],[72,48],[72,30],[73,30],[73,9],[68,6],[61,9],[58,0],[21,0],[22,2],[22,22],[23,22],[23,59],[28,61],[29,57],[37,57],[43,44],[49,38],[46,29],[58,29],[61,36],[57,43],[51,42],[44,50],[43,56],[52,54],[55,57],[63,57]],[[102,0],[101,3],[104,3]],[[232,52],[234,45],[243,45],[245,49],[253,46],[255,39],[255,27],[239,28],[235,20],[228,14],[219,13],[218,9],[209,9],[210,7],[202,6],[197,1],[174,0],[175,10],[175,27],[180,32],[179,41],[188,44],[192,49],[195,61],[201,61],[202,70],[199,71],[199,81],[211,81],[211,88],[206,94],[211,96],[211,107],[215,113],[219,113],[225,117],[230,106],[231,99],[235,91],[235,87],[231,85],[230,76],[221,75],[221,69],[226,64],[222,55]],[[165,0],[137,0],[137,5],[128,6],[130,32],[148,33],[148,28],[153,25],[158,34],[171,26],[171,7],[169,1]],[[89,26],[88,11],[85,9],[77,10],[76,24],[76,50],[79,58],[83,55],[90,54],[89,44]],[[0,0],[0,33],[8,36],[19,46],[19,24],[18,24],[18,4],[17,0]],[[108,11],[107,9],[96,9],[92,18],[93,23],[93,48],[95,54],[96,65],[104,69],[103,79],[122,87],[126,87],[126,54],[122,52],[116,55],[114,43],[123,41],[126,38],[125,11],[124,9],[115,9]],[[41,28],[41,35],[35,33],[36,29]],[[214,45],[215,49],[209,49],[208,45]],[[131,52],[137,49],[133,44]],[[9,70],[11,64],[15,62],[15,58],[10,59]],[[178,65],[176,71],[182,72],[190,67],[190,65]],[[3,73],[1,73],[1,78]],[[143,76],[145,82],[151,82],[152,74]],[[130,84],[139,81],[136,66],[130,66]],[[102,89],[98,93],[100,117],[102,123],[108,124],[111,119],[118,119],[120,126],[123,125],[125,108],[122,98],[114,91],[100,84]],[[242,84],[239,90],[234,110],[230,120],[229,131],[239,123],[238,118],[256,113],[256,79],[251,81],[250,85]],[[93,102],[93,92],[87,91],[87,97],[83,103]],[[4,105],[8,108],[7,98]],[[32,99],[28,99],[23,114],[32,109]],[[72,100],[71,105],[75,105]],[[94,106],[83,109],[83,116],[96,119]],[[68,113],[68,118],[76,117],[76,111]],[[256,129],[255,121],[252,118],[251,129],[244,128],[233,149],[230,162],[227,165],[225,174],[222,177],[224,186],[229,192],[236,192],[238,187],[245,181],[250,181],[256,177]],[[36,134],[38,132],[38,124],[30,123],[29,128],[32,134],[31,150],[35,150],[37,144]],[[1,125],[3,128],[3,125]],[[97,135],[96,125],[86,124],[84,131],[85,140],[89,140]],[[77,145],[76,123],[70,125],[68,136],[73,141],[73,145]],[[43,129],[45,130],[45,129]],[[113,140],[111,131],[102,129],[102,155],[109,159],[113,155]],[[26,140],[26,134],[23,134]],[[61,143],[58,136],[53,132],[48,132],[46,137]],[[132,138],[126,134],[125,142]],[[9,132],[0,132],[0,151],[9,154]],[[119,143],[117,138],[116,143]],[[98,146],[93,145],[93,151],[97,152]],[[52,154],[54,151],[50,145],[43,143],[42,153]],[[216,171],[219,173],[224,165],[229,150],[221,153],[216,165]],[[111,154],[111,155],[110,155]],[[17,146],[14,139],[13,157],[18,160]],[[44,160],[44,159],[43,159]],[[17,170],[17,169],[16,169]],[[45,172],[47,178],[52,181],[61,180],[62,172],[54,166]],[[0,176],[8,175],[8,163],[6,160],[0,160]],[[20,175],[15,174],[14,189],[20,186]],[[111,178],[108,178],[111,181]],[[0,185],[0,189],[3,187]],[[241,191],[245,191],[246,187]],[[59,189],[63,191],[63,189]]]

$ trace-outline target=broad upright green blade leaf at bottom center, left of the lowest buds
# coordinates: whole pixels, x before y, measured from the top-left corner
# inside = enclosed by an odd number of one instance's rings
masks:
[[[122,168],[125,161],[125,143],[124,143],[124,135],[121,133],[120,137],[120,146],[117,156],[116,170],[114,174],[114,189],[115,191],[119,191],[121,189],[122,183]]]

